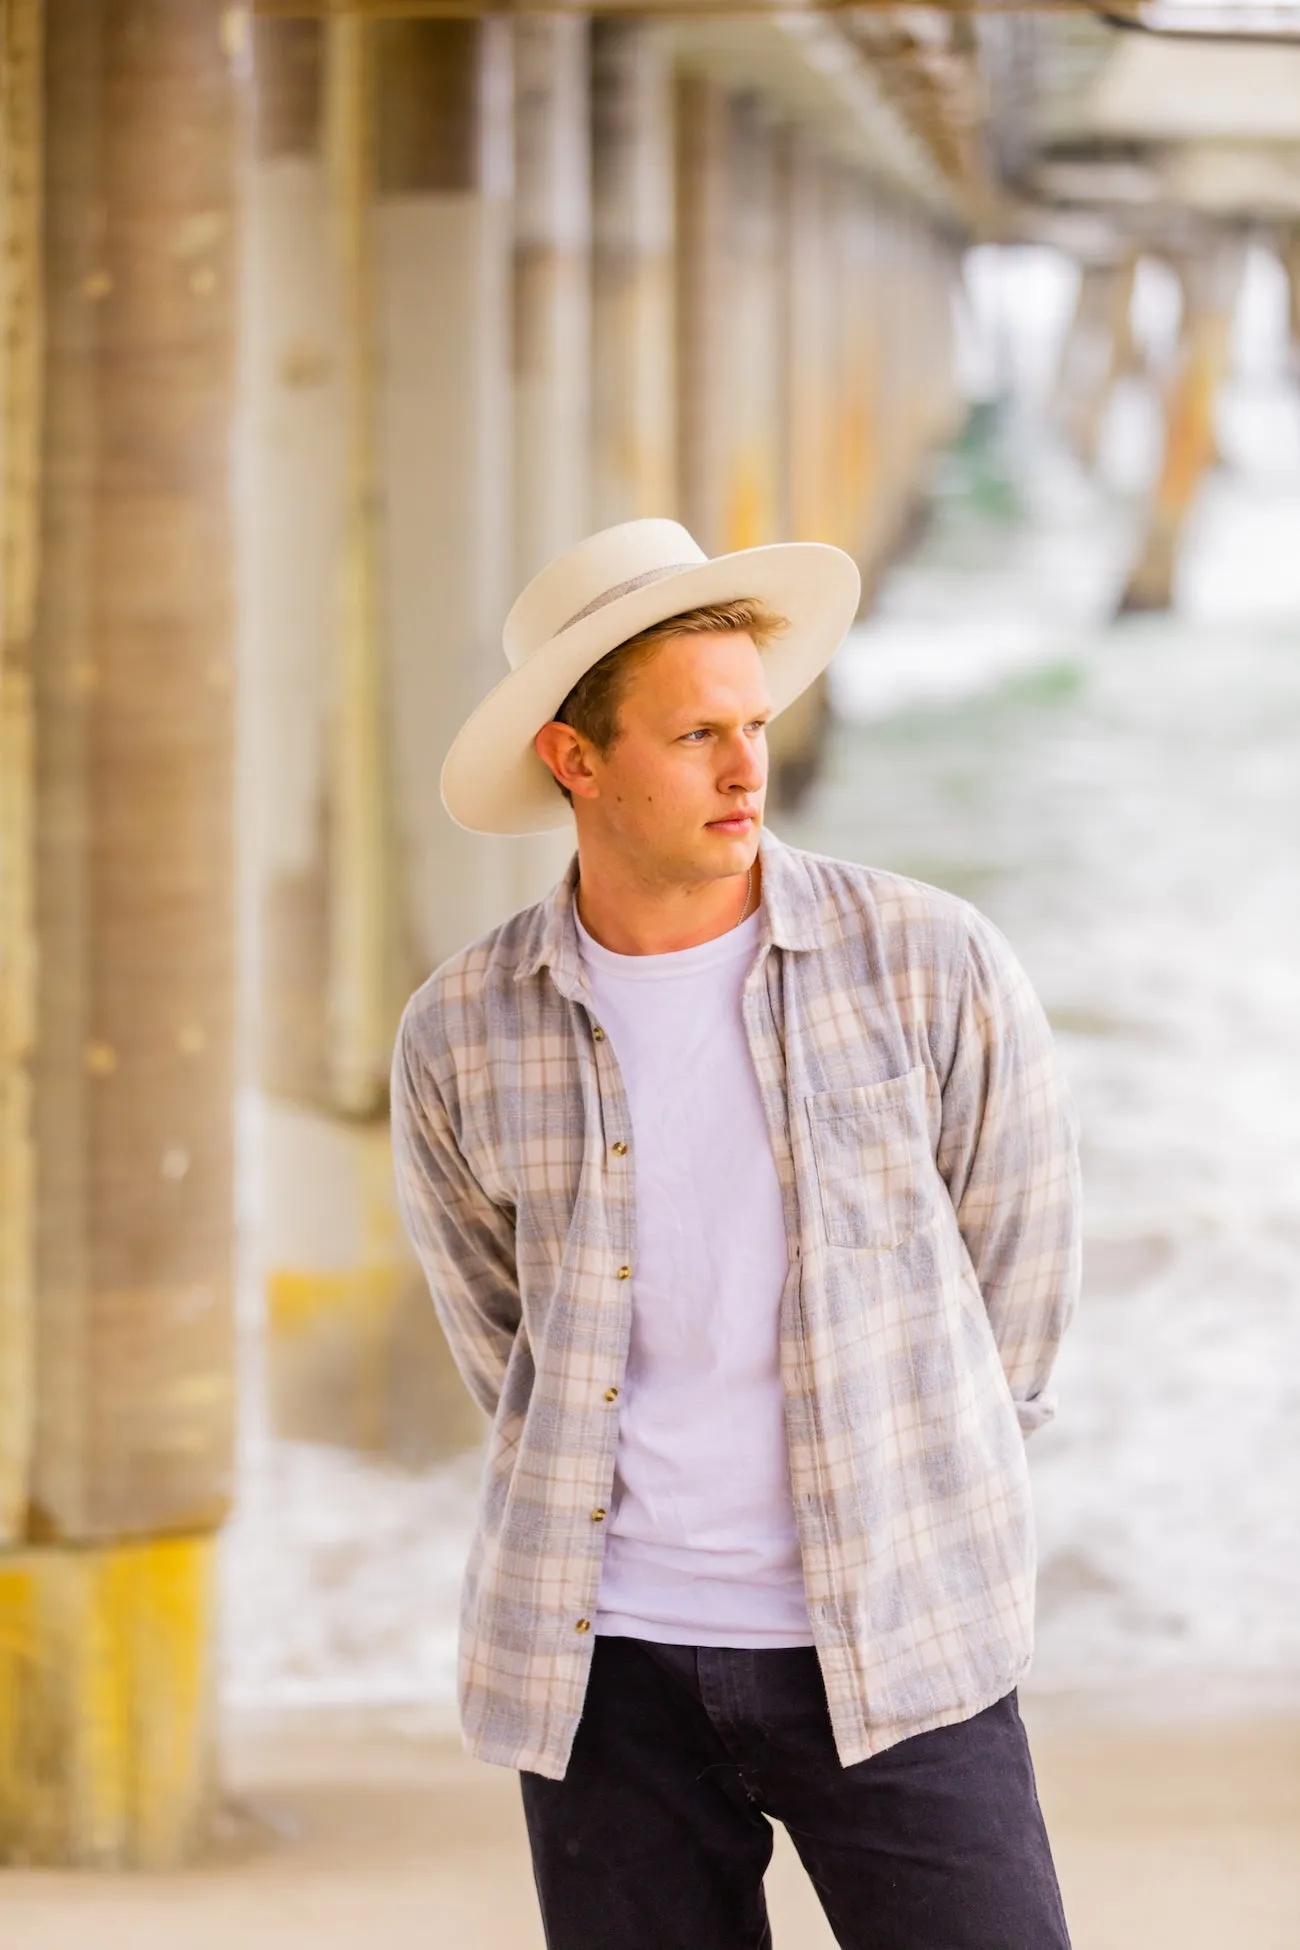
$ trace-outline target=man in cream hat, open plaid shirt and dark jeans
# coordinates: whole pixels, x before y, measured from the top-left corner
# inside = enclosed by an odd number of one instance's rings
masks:
[[[762,831],[858,606],[819,544],[591,536],[442,772],[563,883],[411,998],[405,1219],[491,1418],[470,1751],[552,1950],[756,1950],[785,1823],[852,1950],[1062,1950],[1015,1708],[1023,1435],[1078,1277],[1043,1012],[967,903]]]

